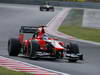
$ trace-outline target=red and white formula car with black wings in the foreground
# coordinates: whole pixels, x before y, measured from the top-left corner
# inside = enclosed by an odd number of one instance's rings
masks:
[[[31,37],[25,37],[26,34],[31,34]],[[64,47],[64,42],[46,34],[44,26],[21,26],[19,37],[8,40],[8,53],[10,56],[21,53],[29,58],[49,56],[61,59],[66,56],[69,61],[74,62],[83,59],[76,44],[70,43]]]

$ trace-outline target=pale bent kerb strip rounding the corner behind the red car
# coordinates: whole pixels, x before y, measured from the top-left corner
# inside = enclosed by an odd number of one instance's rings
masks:
[[[59,26],[62,24],[62,22],[64,21],[64,19],[66,18],[66,16],[68,15],[69,11],[71,10],[71,8],[63,8],[63,10],[58,13],[48,24],[47,24],[47,28],[46,28],[46,32],[48,34],[54,35],[54,36],[58,36],[61,38],[65,38],[65,39],[75,39],[74,37],[70,36],[70,35],[66,35],[64,33],[61,33],[58,31]]]

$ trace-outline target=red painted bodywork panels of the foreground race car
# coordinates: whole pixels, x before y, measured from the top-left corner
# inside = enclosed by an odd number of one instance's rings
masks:
[[[37,36],[36,36],[35,38],[32,38],[32,37],[31,37],[31,38],[29,38],[28,40],[24,40],[24,37],[25,37],[24,34],[23,34],[23,33],[20,33],[20,34],[19,34],[20,44],[21,44],[21,46],[22,46],[23,43],[24,43],[25,46],[26,46],[26,48],[27,48],[27,50],[28,50],[29,41],[30,41],[30,40],[37,40],[38,43],[39,43],[39,45],[40,45],[40,49],[46,51],[46,50],[47,50],[47,48],[46,48],[46,41],[43,40],[43,35],[44,35],[44,34],[45,34],[44,26],[41,26],[40,28],[38,28]],[[57,41],[58,39],[55,39],[55,38],[48,38],[48,40],[56,40],[56,41]],[[59,44],[60,46],[62,46],[62,48],[54,47],[54,50],[56,50],[56,51],[63,51],[63,50],[64,50],[64,48],[63,48],[64,42],[59,41],[58,44]],[[28,54],[28,51],[26,51],[26,53]]]

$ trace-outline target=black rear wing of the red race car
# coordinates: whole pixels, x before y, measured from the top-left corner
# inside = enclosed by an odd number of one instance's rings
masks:
[[[36,33],[39,27],[36,26],[21,26],[20,33]]]

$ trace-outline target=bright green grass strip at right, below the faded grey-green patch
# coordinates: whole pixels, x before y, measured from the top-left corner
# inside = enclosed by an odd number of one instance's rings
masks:
[[[100,29],[84,28],[77,25],[75,26],[62,25],[59,28],[59,31],[80,39],[100,42]]]

